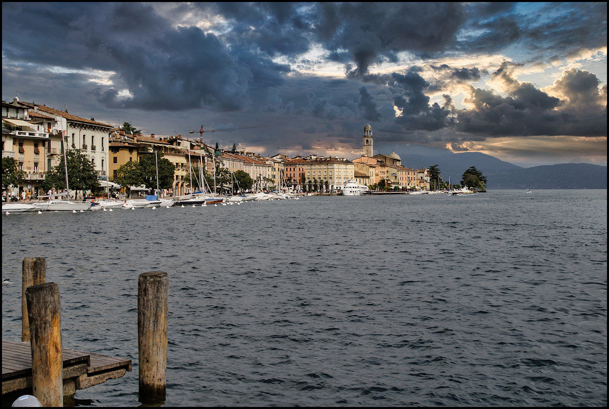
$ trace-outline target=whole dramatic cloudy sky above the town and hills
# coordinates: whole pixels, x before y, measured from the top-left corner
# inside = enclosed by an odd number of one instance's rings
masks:
[[[2,99],[353,159],[607,165],[607,3],[3,3]],[[406,164],[407,166],[407,164]]]

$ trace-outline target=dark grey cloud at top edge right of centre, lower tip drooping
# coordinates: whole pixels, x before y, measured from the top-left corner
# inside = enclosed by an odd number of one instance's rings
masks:
[[[439,52],[454,41],[464,22],[459,3],[315,3],[313,33],[334,56],[348,51],[353,71],[364,75],[395,53]]]

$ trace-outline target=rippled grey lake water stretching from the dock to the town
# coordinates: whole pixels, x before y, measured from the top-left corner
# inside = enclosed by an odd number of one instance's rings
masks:
[[[605,406],[607,191],[2,215],[2,339],[47,259],[76,393],[137,406],[137,283],[169,274],[167,406]]]

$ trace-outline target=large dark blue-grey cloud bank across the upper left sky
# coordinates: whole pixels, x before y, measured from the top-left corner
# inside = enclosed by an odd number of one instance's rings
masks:
[[[279,85],[289,71],[258,49],[227,47],[197,27],[174,29],[150,6],[77,3],[63,9],[51,4],[3,8],[3,54],[116,72],[131,96],[121,98],[116,86],[100,86],[97,97],[107,107],[239,110],[257,97],[256,90]],[[22,40],[24,32],[32,32],[29,44]]]

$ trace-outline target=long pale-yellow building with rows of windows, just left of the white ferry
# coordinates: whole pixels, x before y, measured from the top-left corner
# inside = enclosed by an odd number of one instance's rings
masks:
[[[354,178],[354,165],[345,158],[317,157],[305,164],[305,178],[310,189],[340,189],[345,182]]]

